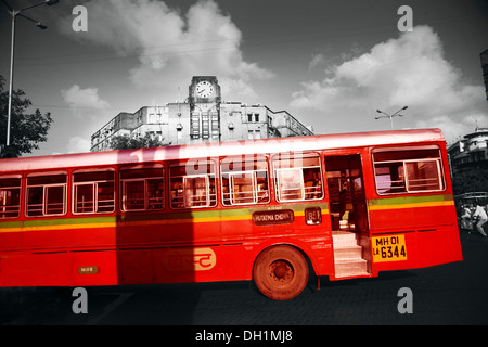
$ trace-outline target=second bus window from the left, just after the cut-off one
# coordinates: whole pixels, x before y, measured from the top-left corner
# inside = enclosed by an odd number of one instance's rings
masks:
[[[62,216],[66,213],[66,174],[27,177],[27,216]]]

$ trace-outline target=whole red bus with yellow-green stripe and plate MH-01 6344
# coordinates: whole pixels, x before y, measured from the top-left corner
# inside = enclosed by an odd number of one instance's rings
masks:
[[[438,129],[0,160],[0,286],[330,280],[460,261]]]

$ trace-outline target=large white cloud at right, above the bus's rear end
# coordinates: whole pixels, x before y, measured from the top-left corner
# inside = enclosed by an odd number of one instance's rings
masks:
[[[362,115],[354,119],[356,125],[378,128],[378,120],[373,120],[376,108],[394,113],[408,105],[403,126],[439,127],[447,138],[454,138],[473,131],[476,120],[488,124],[484,97],[483,86],[465,83],[446,60],[439,36],[428,26],[416,26],[329,66],[321,80],[303,82],[291,106],[323,111],[347,129],[354,115]]]

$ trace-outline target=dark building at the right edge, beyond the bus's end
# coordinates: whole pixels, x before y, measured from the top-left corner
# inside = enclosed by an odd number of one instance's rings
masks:
[[[477,128],[448,147],[451,170],[488,169],[488,128]]]

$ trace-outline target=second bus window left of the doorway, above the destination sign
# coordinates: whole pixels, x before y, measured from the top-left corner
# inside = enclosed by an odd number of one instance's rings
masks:
[[[269,203],[266,157],[245,160],[228,157],[221,163],[223,205]]]

